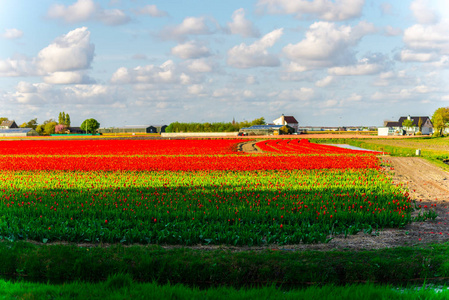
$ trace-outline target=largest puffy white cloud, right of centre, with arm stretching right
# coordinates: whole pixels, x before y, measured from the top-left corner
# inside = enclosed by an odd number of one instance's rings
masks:
[[[367,34],[374,33],[373,24],[360,22],[354,27],[335,23],[316,22],[310,25],[306,37],[297,44],[284,47],[285,55],[298,63],[297,68],[303,70],[347,65],[355,60],[352,51],[359,41]]]

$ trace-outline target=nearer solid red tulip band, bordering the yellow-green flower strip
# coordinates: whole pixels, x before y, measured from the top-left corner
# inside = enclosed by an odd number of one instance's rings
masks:
[[[3,156],[0,170],[197,171],[379,168],[373,155]]]

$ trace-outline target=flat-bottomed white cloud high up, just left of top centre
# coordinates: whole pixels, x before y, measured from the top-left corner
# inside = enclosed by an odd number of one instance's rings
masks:
[[[212,34],[213,29],[205,17],[187,17],[181,24],[168,26],[162,29],[160,37],[162,39],[184,39],[188,35]]]

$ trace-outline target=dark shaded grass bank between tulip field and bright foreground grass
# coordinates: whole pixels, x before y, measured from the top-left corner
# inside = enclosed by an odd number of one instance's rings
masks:
[[[166,250],[159,246],[0,243],[4,279],[62,283],[129,274],[138,282],[283,288],[375,282],[408,284],[449,277],[449,245],[360,252]]]

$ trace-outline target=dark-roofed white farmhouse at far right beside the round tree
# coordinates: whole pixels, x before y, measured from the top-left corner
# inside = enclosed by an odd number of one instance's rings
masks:
[[[411,127],[402,126],[402,124],[406,120],[412,121]],[[419,127],[419,125],[421,125],[421,128]],[[421,132],[422,134],[433,133],[433,124],[429,117],[407,116],[407,117],[400,117],[397,122],[386,121],[383,127],[378,128],[377,134],[379,136],[415,135],[417,132]]]

